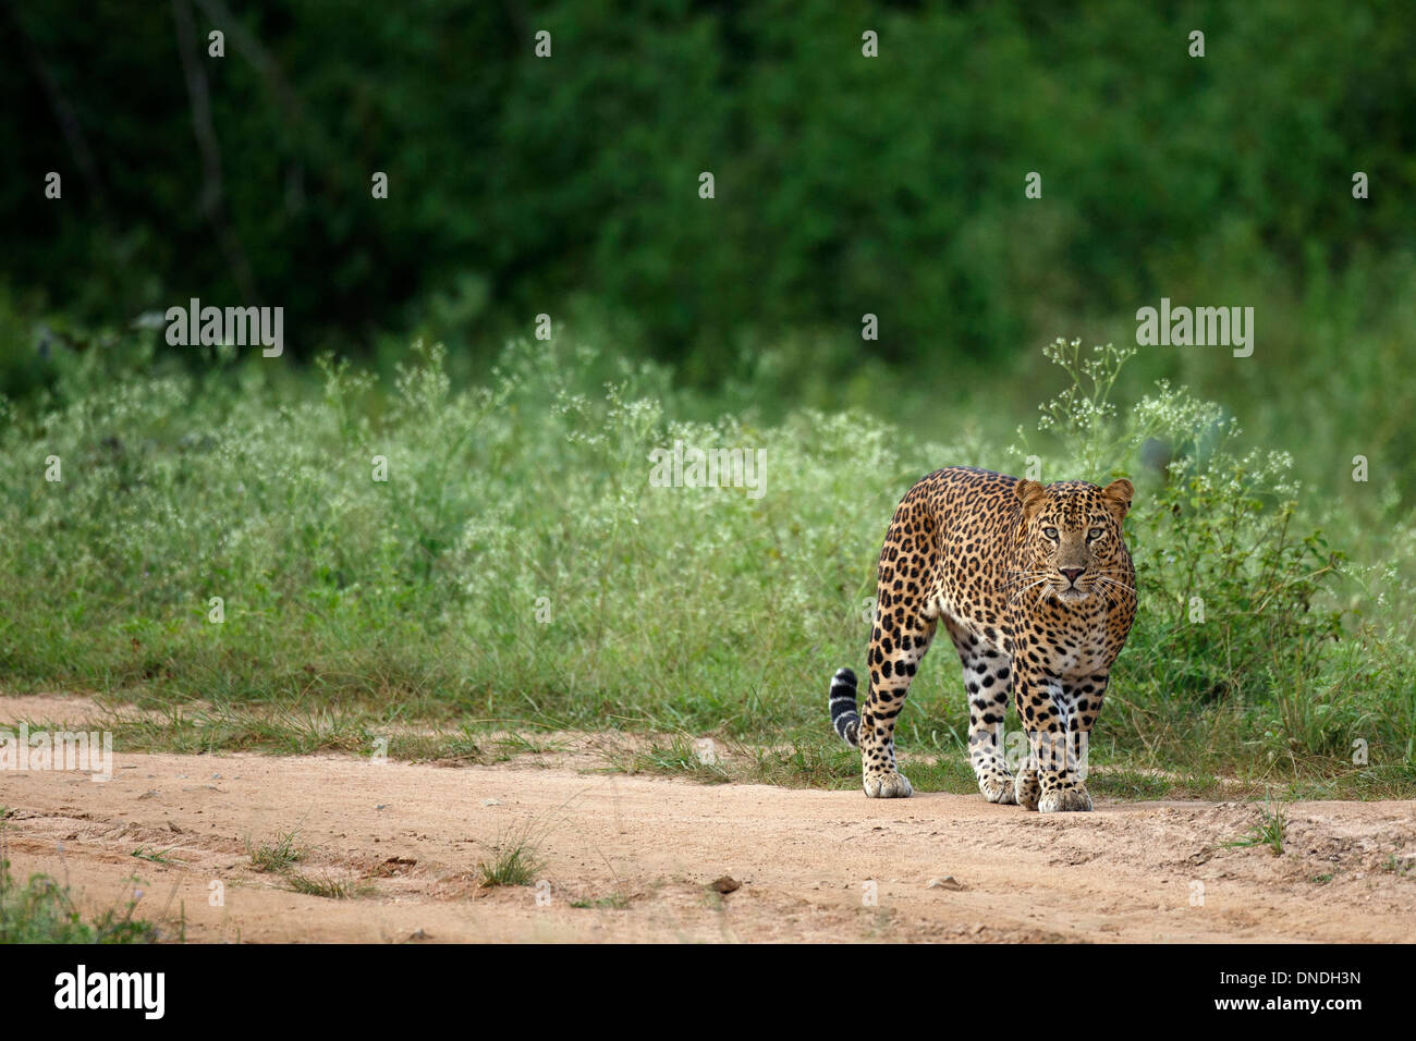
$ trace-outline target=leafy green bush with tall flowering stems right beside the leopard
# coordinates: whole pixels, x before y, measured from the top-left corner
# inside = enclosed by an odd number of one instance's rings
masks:
[[[1157,712],[1320,704],[1344,636],[1335,589],[1345,555],[1300,527],[1303,489],[1289,453],[1246,450],[1238,421],[1214,402],[1161,381],[1117,408],[1112,392],[1134,353],[1107,344],[1083,355],[1080,341],[1055,341],[1046,354],[1070,385],[1042,406],[1039,423],[1054,438],[1051,459],[1137,483],[1127,530],[1141,610],[1116,669],[1123,697],[1148,710],[1134,739],[1147,738]],[[1020,439],[1027,445],[1021,429]],[[1283,725],[1283,738],[1304,753],[1337,753],[1357,719],[1334,712],[1325,724]]]

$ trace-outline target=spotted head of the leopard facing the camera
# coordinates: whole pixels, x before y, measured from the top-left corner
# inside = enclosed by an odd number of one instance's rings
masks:
[[[1129,480],[1104,489],[1085,480],[1042,486],[1020,480],[1014,486],[1022,504],[1024,595],[1055,595],[1063,603],[1080,603],[1109,589],[1130,589],[1121,565],[1130,561],[1121,537],[1121,518],[1131,507]]]

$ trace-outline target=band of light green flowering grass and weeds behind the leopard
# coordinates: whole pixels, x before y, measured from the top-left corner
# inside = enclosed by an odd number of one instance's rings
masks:
[[[513,344],[469,389],[436,348],[391,387],[224,360],[112,378],[81,355],[0,428],[0,524],[33,533],[0,541],[0,684],[154,710],[115,724],[123,751],[486,763],[616,729],[681,736],[613,769],[848,787],[826,687],[860,666],[895,503],[937,466],[1035,455],[1045,479],[1137,486],[1100,793],[1416,795],[1416,518],[1391,484],[1337,503],[1297,440],[1137,382],[1127,351],[1049,357],[1039,429],[1008,433],[1014,411],[932,443],[865,412],[707,419],[666,370],[565,339]],[[674,440],[763,449],[763,494],[651,486]],[[59,483],[33,465],[51,455]],[[724,762],[695,753],[709,734]],[[918,789],[973,790],[966,736],[936,646],[901,717]]]

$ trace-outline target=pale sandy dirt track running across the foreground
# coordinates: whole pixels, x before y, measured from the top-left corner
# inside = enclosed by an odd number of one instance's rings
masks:
[[[0,724],[72,719],[75,702],[42,708],[0,698]],[[1412,802],[1290,804],[1274,857],[1221,846],[1253,803],[1044,817],[627,776],[586,746],[496,766],[120,753],[108,782],[4,772],[4,855],[89,908],[142,889],[140,914],[174,939],[184,922],[188,942],[1416,939]],[[252,868],[248,840],[292,829],[309,847],[296,870],[351,898]],[[523,836],[542,884],[481,888],[479,863]],[[716,892],[724,877],[739,888]]]

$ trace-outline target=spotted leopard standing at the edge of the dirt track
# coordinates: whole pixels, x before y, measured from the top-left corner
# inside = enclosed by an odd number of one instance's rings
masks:
[[[1085,752],[1136,620],[1121,524],[1133,494],[1124,477],[1042,484],[973,466],[936,470],[905,493],[877,568],[864,711],[848,667],[827,694],[835,732],[861,752],[868,797],[913,793],[895,759],[895,722],[943,625],[963,667],[969,763],[984,799],[1092,810]],[[1012,756],[1010,694],[1027,732]]]

